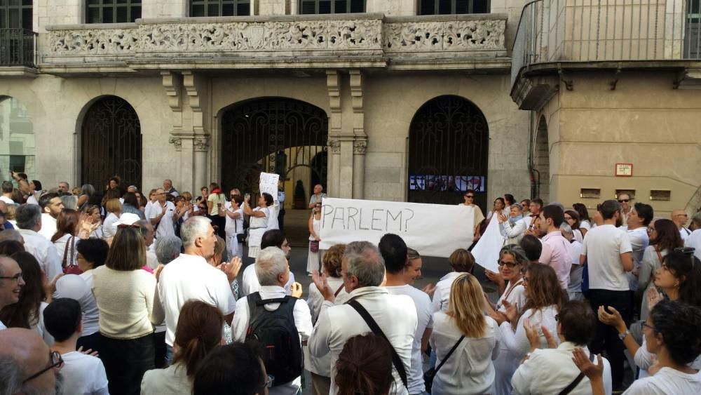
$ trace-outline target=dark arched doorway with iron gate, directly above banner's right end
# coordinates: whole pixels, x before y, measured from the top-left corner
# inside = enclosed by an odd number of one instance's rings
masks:
[[[472,102],[444,95],[426,102],[409,128],[409,201],[455,204],[465,189],[486,208],[489,126]]]

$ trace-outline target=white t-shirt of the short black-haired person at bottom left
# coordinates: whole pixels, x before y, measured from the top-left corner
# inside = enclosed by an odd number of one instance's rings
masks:
[[[61,354],[61,357],[64,394],[109,394],[107,375],[99,358],[76,351]]]

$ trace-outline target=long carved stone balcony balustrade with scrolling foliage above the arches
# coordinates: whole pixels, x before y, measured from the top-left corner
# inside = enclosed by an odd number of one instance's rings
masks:
[[[42,67],[159,64],[202,67],[384,67],[475,58],[506,61],[506,15],[383,14],[146,19],[130,24],[48,27]]]

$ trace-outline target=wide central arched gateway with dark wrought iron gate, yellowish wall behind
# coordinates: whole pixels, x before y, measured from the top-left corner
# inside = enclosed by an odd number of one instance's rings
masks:
[[[306,102],[287,98],[250,100],[222,116],[222,185],[258,191],[259,174],[286,180],[294,168],[311,169],[326,185],[328,116]],[[311,189],[311,188],[307,188]],[[292,199],[292,191],[286,191]]]

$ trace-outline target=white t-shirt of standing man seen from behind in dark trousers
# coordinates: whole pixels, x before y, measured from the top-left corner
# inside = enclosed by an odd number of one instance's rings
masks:
[[[632,250],[628,234],[623,229],[601,225],[587,232],[582,255],[587,256],[589,288],[628,290],[628,279],[620,255]]]

